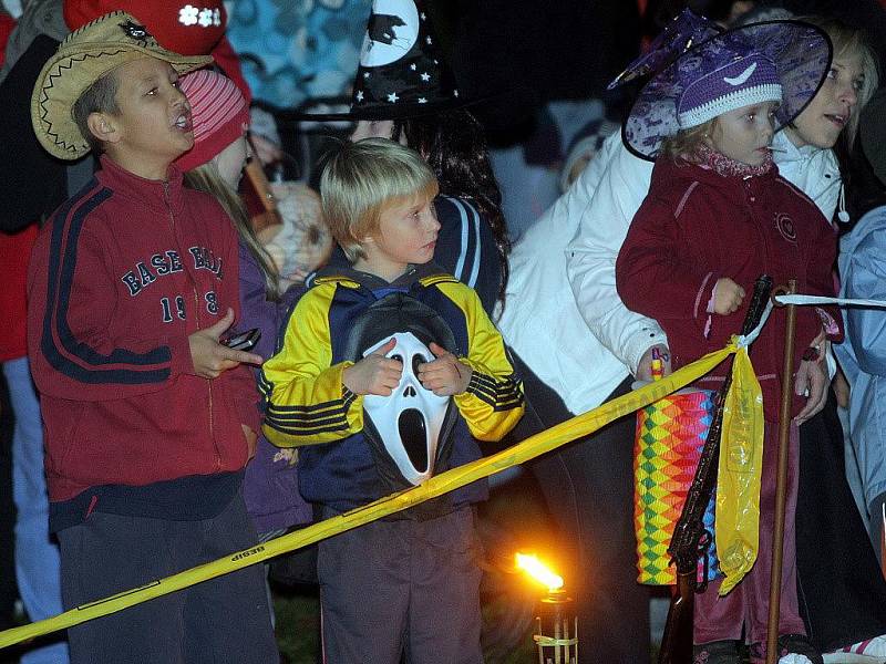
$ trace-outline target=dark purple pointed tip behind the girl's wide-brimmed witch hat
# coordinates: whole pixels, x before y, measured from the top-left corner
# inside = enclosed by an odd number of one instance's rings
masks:
[[[607,90],[660,72],[682,53],[720,32],[722,32],[722,28],[713,21],[698,15],[690,9],[684,9],[652,40],[646,53],[631,62],[609,83]]]

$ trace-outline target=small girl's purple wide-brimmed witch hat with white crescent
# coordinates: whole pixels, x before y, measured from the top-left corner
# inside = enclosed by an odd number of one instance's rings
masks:
[[[640,91],[621,128],[625,145],[653,160],[661,142],[750,104],[781,101],[775,131],[796,117],[831,68],[831,40],[802,21],[742,25],[691,48]]]

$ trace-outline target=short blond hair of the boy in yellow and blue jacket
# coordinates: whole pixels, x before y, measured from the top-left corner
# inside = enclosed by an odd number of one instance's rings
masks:
[[[421,155],[388,138],[346,143],[320,176],[320,198],[332,236],[351,262],[365,258],[361,238],[401,200],[431,200],[440,187]]]

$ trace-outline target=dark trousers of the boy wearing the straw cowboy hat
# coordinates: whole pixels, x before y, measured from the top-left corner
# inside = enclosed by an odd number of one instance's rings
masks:
[[[202,521],[93,512],[59,533],[72,609],[256,543],[243,498]],[[71,662],[277,664],[262,566],[251,566],[68,631]]]

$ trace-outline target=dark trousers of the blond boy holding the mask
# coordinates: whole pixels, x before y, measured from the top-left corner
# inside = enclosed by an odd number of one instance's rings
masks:
[[[373,521],[322,540],[323,662],[480,664],[481,558],[468,507],[426,521]]]

